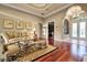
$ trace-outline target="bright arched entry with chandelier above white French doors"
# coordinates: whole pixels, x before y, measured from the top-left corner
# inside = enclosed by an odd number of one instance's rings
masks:
[[[79,40],[87,40],[87,14],[79,6],[70,7],[67,12],[66,17],[69,20],[69,37],[72,39],[79,39]],[[66,21],[65,21],[66,22]],[[66,23],[64,23],[66,25]],[[67,28],[67,26],[66,26]],[[65,29],[65,28],[64,28]],[[65,30],[65,32],[67,32]]]

